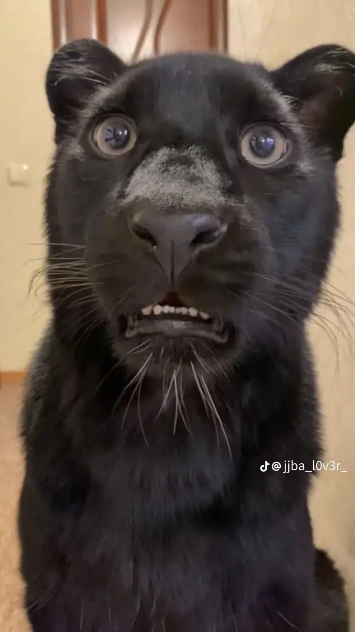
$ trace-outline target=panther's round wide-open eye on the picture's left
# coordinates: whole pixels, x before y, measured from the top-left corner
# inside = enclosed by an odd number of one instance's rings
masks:
[[[101,119],[92,132],[94,148],[108,158],[126,154],[135,146],[136,140],[135,123],[118,114]]]

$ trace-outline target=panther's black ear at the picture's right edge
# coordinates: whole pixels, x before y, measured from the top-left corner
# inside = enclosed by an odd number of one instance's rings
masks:
[[[272,75],[275,87],[293,97],[311,140],[338,161],[355,119],[355,54],[336,44],[316,46]]]

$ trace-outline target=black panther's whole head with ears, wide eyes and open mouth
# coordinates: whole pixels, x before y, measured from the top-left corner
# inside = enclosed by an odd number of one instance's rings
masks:
[[[268,72],[215,54],[129,67],[91,40],[58,51],[47,75],[55,312],[155,367],[223,368],[302,327],[338,222],[352,58],[323,46]]]

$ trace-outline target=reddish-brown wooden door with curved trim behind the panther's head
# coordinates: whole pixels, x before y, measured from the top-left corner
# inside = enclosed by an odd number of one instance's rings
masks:
[[[227,0],[52,0],[54,47],[93,37],[125,61],[226,51]]]

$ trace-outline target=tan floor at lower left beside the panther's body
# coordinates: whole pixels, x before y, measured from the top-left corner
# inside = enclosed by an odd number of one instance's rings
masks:
[[[0,389],[0,630],[28,632],[22,608],[23,585],[18,572],[16,528],[18,494],[23,459],[18,439],[21,387],[3,384]]]

